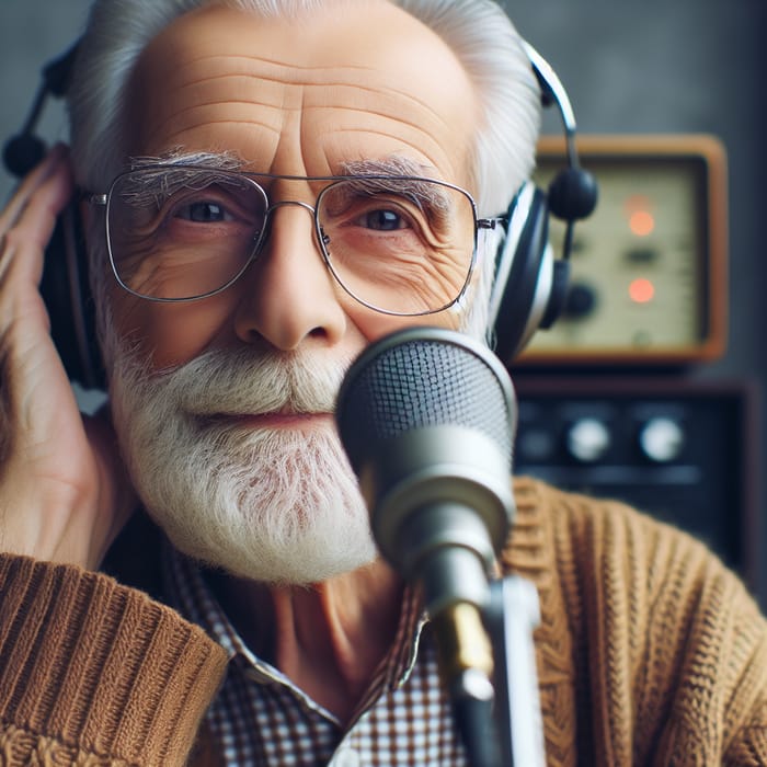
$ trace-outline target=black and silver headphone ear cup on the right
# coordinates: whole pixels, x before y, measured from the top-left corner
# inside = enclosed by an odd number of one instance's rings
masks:
[[[491,296],[495,353],[504,362],[511,360],[540,325],[549,305],[553,271],[546,194],[527,183],[510,211]]]

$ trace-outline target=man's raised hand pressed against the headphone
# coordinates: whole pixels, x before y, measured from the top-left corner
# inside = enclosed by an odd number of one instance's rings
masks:
[[[38,290],[71,194],[56,147],[0,214],[0,551],[96,568],[133,497],[108,420],[79,412]]]

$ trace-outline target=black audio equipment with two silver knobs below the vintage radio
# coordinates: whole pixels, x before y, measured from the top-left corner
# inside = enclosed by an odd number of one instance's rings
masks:
[[[613,497],[702,539],[755,587],[755,387],[664,377],[515,377],[515,474]]]

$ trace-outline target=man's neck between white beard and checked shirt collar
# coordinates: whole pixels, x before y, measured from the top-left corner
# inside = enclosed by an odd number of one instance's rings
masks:
[[[308,587],[216,576],[214,588],[251,650],[342,722],[391,646],[402,605],[381,560]]]

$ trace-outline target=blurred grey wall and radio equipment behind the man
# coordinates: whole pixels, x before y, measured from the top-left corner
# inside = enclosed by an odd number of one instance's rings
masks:
[[[76,39],[88,5],[0,0],[3,141],[23,125],[42,66]],[[599,217],[576,234],[580,304],[554,341],[536,341],[512,365],[517,470],[623,497],[689,529],[765,607],[767,3],[518,0],[505,8],[566,87],[589,148],[584,164],[603,183]],[[41,133],[66,139],[58,105],[46,108]],[[556,115],[545,133],[560,134]],[[697,141],[701,134],[716,138],[725,164]],[[552,163],[560,161],[546,153],[541,171]],[[3,199],[12,183],[0,170]],[[655,231],[620,230],[629,204],[654,217]],[[721,257],[729,279],[711,266]],[[663,337],[685,323],[688,334],[672,337],[667,354]],[[595,355],[589,336],[616,324],[622,335]],[[721,348],[707,346],[707,334],[722,335],[725,325]]]

